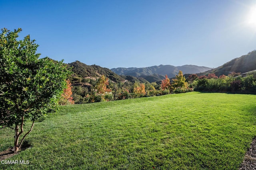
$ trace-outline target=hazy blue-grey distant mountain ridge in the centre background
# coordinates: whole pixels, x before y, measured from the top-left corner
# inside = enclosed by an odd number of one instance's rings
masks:
[[[140,77],[143,76],[151,76],[158,77],[156,75],[165,76],[167,74],[168,77],[172,78],[175,77],[179,70],[183,72],[183,74],[195,74],[200,72],[205,72],[212,68],[204,67],[204,66],[195,66],[195,65],[184,65],[184,66],[172,66],[172,65],[159,65],[159,66],[150,66],[144,68],[112,68],[111,70],[119,75],[126,75],[126,76],[135,76]],[[152,77],[150,77],[152,78]],[[158,77],[159,78],[159,77]],[[146,78],[145,78],[146,79]]]

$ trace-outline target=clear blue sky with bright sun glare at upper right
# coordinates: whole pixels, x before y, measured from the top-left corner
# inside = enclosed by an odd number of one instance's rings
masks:
[[[256,0],[0,0],[0,28],[21,27],[20,37],[36,39],[41,57],[64,63],[215,68],[256,49],[254,6]]]

